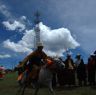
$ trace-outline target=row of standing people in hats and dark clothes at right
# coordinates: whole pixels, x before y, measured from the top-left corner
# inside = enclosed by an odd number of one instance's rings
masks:
[[[80,54],[74,61],[70,54],[63,61],[65,68],[57,73],[59,85],[95,86],[96,85],[96,54],[91,54],[85,64]],[[56,82],[53,84],[56,85]]]

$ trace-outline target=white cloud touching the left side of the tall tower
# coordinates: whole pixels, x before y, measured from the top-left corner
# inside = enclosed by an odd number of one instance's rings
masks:
[[[17,43],[10,41],[10,39],[3,42],[5,48],[11,49],[15,52],[32,52],[32,47],[34,47],[34,31],[26,30],[24,36]]]

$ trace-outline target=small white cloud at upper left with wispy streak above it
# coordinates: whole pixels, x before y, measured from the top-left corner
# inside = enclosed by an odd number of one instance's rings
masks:
[[[8,10],[8,7],[6,7],[5,4],[0,3],[0,13],[2,13],[5,17],[8,18],[8,21],[3,21],[2,24],[8,29],[8,30],[19,30],[20,32],[23,31],[25,27],[24,21],[26,21],[26,16],[21,16],[18,20],[15,18],[11,12]]]

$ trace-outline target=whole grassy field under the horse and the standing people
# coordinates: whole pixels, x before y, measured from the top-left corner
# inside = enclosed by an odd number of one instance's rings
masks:
[[[0,95],[16,95],[19,89],[16,81],[17,74],[6,74],[3,80],[0,80]],[[76,88],[55,88],[56,95],[96,95],[96,88],[94,87],[76,87]],[[27,88],[25,95],[33,95],[34,89]],[[38,95],[50,95],[47,88],[40,89]]]

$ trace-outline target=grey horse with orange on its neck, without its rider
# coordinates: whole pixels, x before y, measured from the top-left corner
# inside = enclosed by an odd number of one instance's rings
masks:
[[[52,87],[52,78],[53,78],[53,73],[56,73],[58,69],[63,69],[64,64],[60,59],[56,58],[51,58],[52,59],[52,64],[45,64],[40,68],[39,75],[38,75],[38,80],[33,80],[30,77],[23,77],[22,79],[22,85],[19,89],[18,92],[21,92],[21,95],[24,95],[26,87],[33,83],[35,84],[35,92],[34,95],[38,94],[38,91],[42,85],[46,85],[49,88],[49,91],[51,92],[52,95],[55,95],[53,87]],[[25,72],[26,75],[26,72]]]

